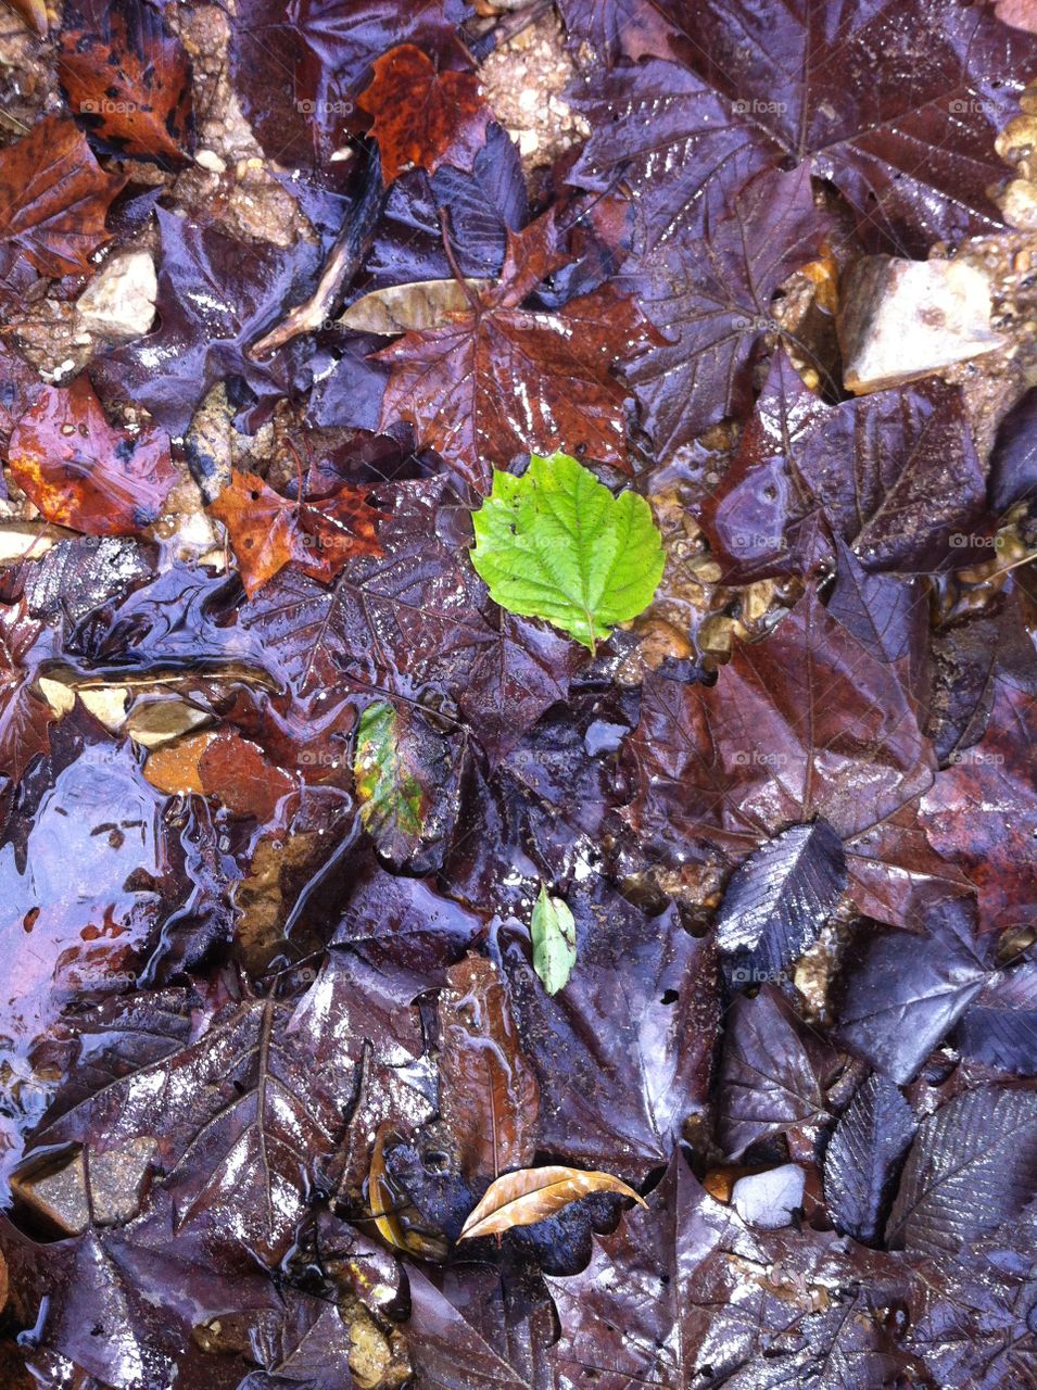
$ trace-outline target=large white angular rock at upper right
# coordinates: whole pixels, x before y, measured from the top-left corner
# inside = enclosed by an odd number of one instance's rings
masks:
[[[848,391],[881,391],[1004,345],[990,327],[990,279],[966,261],[866,256],[851,267],[838,316]]]

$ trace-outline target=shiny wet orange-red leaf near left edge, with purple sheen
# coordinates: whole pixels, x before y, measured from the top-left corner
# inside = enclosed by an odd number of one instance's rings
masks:
[[[47,521],[86,535],[136,535],[179,477],[161,430],[108,424],[88,377],[44,388],[11,432],[11,477]]]

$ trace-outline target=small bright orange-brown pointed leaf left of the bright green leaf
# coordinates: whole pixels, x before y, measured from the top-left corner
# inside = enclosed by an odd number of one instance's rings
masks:
[[[235,468],[210,510],[227,527],[249,594],[291,563],[327,582],[352,556],[382,553],[375,538],[381,513],[364,500],[363,488],[295,502]]]

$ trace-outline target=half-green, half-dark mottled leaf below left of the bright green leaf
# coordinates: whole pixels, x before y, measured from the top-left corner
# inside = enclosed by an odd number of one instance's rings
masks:
[[[459,794],[455,752],[418,714],[385,701],[360,716],[353,755],[360,819],[391,867],[442,866]]]

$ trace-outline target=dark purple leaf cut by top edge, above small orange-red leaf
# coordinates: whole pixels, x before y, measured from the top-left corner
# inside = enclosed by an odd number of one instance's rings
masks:
[[[460,0],[247,0],[231,33],[231,81],[264,152],[281,164],[328,161],[343,143],[373,61],[400,43],[445,63],[468,58],[455,33]]]

